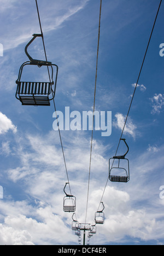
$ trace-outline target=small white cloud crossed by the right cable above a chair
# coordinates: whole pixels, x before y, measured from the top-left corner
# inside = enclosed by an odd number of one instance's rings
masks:
[[[113,125],[117,128],[119,128],[120,130],[123,129],[124,127],[124,124],[125,124],[125,120],[126,120],[126,117],[124,115],[122,115],[121,113],[118,113],[115,115],[116,117],[116,121],[113,122]],[[129,117],[127,119],[127,123],[126,123],[126,126],[125,126],[125,130],[124,130],[124,133],[125,134],[130,134],[133,138],[136,137],[136,130],[137,130],[137,126],[133,124],[131,118]]]

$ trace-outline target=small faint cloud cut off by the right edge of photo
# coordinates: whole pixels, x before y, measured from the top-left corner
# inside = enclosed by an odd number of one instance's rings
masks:
[[[153,98],[150,98],[150,101],[153,103],[151,114],[160,114],[164,106],[164,95],[155,94]]]

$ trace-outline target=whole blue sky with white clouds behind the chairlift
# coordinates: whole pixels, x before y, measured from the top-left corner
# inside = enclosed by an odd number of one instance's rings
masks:
[[[67,182],[51,107],[27,107],[15,98],[15,80],[27,61],[24,48],[40,33],[35,1],[0,0],[1,245],[77,245],[72,214],[62,211]],[[92,223],[108,178],[160,1],[103,0],[96,110],[112,111],[112,135],[93,132],[87,223]],[[38,0],[48,60],[59,67],[56,108],[93,109],[98,0]],[[91,245],[163,245],[163,38],[162,3],[124,137],[130,147],[130,182],[108,182],[105,224]],[[44,59],[42,40],[31,45]],[[42,77],[46,74],[43,73]],[[91,131],[61,131],[77,218],[85,222]],[[119,154],[123,148],[119,148]],[[124,150],[124,149],[123,149]],[[2,197],[2,193],[1,193]]]

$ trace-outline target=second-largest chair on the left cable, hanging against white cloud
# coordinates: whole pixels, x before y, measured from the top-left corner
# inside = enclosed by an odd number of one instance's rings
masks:
[[[63,211],[64,212],[75,212],[76,210],[76,197],[73,195],[68,195],[65,191],[66,186],[69,183],[66,183],[65,188],[64,188],[64,192],[66,194],[66,196],[63,199]]]

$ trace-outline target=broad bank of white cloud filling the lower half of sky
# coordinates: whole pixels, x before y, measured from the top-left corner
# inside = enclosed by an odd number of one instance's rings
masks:
[[[67,135],[68,133],[62,133],[63,144],[67,145],[65,156],[68,174],[72,192],[77,197],[77,218],[79,222],[83,223],[84,197],[87,188],[85,181],[89,168],[86,163],[89,163],[90,143],[89,139],[84,136],[70,135],[69,137]],[[55,243],[59,245],[63,241],[66,244],[78,242],[78,238],[71,231],[71,215],[62,212],[66,174],[60,156],[60,144],[57,139],[54,139],[55,137],[54,131],[45,137],[28,135],[24,137],[24,141],[19,142],[21,147],[18,144],[18,150],[15,148],[20,159],[22,158],[22,165],[18,165],[16,169],[9,170],[7,173],[12,181],[22,184],[24,192],[35,200],[29,205],[25,201],[1,203],[1,212],[4,214],[2,229],[5,240],[1,235],[0,239],[3,243],[38,245]],[[54,146],[52,146],[52,142]],[[163,166],[161,158],[163,149],[159,148],[159,151],[156,152],[154,147],[150,146],[150,150],[130,162],[131,180],[126,187],[112,183],[107,186],[103,196],[105,224],[97,226],[97,234],[91,238],[91,243],[97,245],[121,241],[126,236],[143,240],[162,237],[163,223],[158,219],[159,210],[152,213],[151,209],[147,210],[142,205],[143,199],[149,202],[149,205],[152,204],[153,209],[154,203],[157,204],[157,200],[154,199],[154,190],[159,190],[159,188],[156,188],[156,184],[152,187],[150,182],[143,185],[145,177],[149,177],[146,174],[152,173],[156,168],[161,170]],[[103,157],[105,151],[106,147],[94,140],[87,214],[89,223],[92,223],[94,219],[104,189],[102,184],[105,185],[108,175],[108,160]],[[49,152],[49,156],[46,155],[47,152]],[[139,179],[136,182],[138,176]],[[58,230],[61,231],[60,236],[58,236]]]

